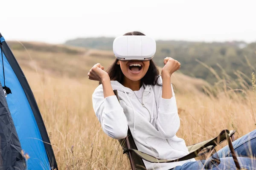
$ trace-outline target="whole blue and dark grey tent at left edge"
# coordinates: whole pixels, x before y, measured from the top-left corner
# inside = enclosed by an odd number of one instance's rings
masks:
[[[0,170],[58,170],[35,97],[1,34],[0,58]]]

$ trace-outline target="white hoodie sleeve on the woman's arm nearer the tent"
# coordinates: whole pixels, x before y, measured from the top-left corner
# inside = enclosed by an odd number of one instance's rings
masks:
[[[93,93],[93,110],[101,123],[102,130],[114,139],[124,139],[127,136],[128,122],[123,108],[116,96],[104,99],[102,85]]]

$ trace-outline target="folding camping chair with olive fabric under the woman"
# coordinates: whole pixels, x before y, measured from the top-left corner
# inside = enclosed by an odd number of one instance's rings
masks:
[[[116,90],[114,90],[114,94],[116,95],[119,101],[118,93]],[[247,170],[240,167],[238,159],[236,157],[235,150],[232,145],[232,142],[235,140],[234,138],[235,133],[236,133],[235,130],[231,130],[231,131],[222,130],[221,133],[213,139],[209,139],[204,142],[199,142],[197,144],[187,146],[189,150],[189,154],[175,160],[158,159],[154,156],[140,152],[137,149],[137,146],[134,142],[134,139],[131,135],[131,131],[129,128],[128,128],[128,135],[125,137],[125,139],[119,140],[119,143],[123,148],[123,153],[124,154],[126,153],[128,155],[132,170],[146,170],[143,160],[149,161],[151,163],[169,163],[169,162],[185,161],[185,160],[196,158],[196,157],[201,157],[203,159],[207,158],[206,162],[202,162],[202,163],[204,163],[205,169],[208,169],[209,167],[211,167],[211,165],[218,166],[218,164],[220,163],[220,159],[218,158],[218,154],[215,151],[215,147],[218,144],[221,144],[222,142],[227,140],[236,168],[238,170]]]

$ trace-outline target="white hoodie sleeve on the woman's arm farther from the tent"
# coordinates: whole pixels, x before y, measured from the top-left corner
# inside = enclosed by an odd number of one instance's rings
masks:
[[[162,83],[162,79],[160,79]],[[172,98],[162,98],[162,87],[158,99],[157,127],[160,135],[165,138],[172,138],[180,128],[180,118],[177,110],[175,93],[172,87]]]

